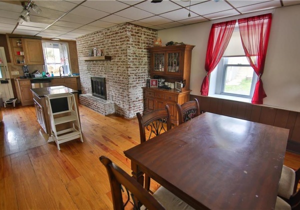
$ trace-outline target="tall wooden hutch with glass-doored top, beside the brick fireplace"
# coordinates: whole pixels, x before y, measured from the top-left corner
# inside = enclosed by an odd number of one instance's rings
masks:
[[[180,92],[175,89],[143,87],[145,94],[144,112],[164,108],[168,105],[172,123],[178,124],[176,103],[189,100],[191,50],[194,45],[181,44],[148,48],[150,52],[151,78],[164,78],[165,82],[182,82]]]

